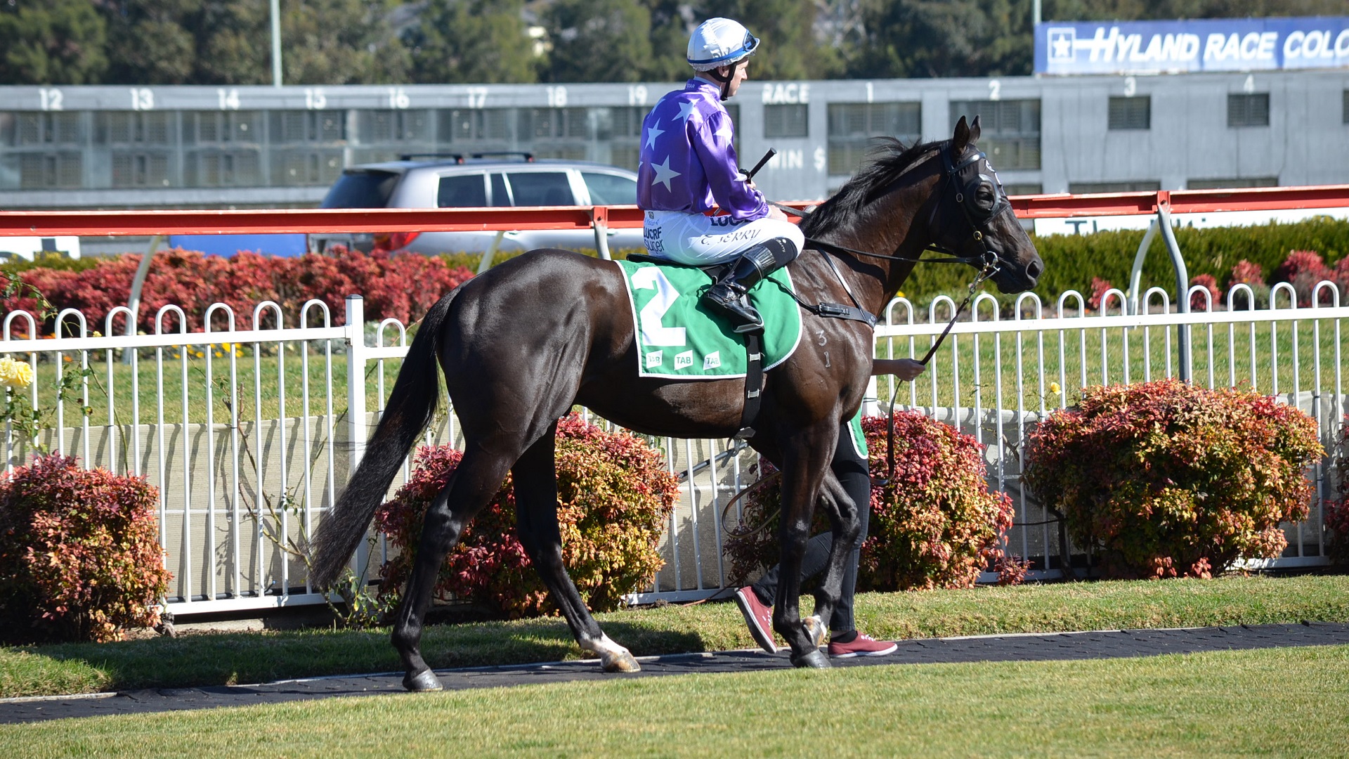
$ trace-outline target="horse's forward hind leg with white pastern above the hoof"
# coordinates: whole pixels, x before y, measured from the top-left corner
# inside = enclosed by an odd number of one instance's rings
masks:
[[[641,670],[637,659],[599,628],[563,563],[563,535],[557,528],[557,475],[553,466],[556,427],[554,423],[511,469],[519,542],[567,617],[576,643],[585,651],[599,654],[600,667],[606,673],[635,673]]]

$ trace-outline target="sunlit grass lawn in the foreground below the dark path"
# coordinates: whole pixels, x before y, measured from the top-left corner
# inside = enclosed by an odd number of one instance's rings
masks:
[[[1344,756],[1349,647],[897,664],[0,725],[7,756]]]

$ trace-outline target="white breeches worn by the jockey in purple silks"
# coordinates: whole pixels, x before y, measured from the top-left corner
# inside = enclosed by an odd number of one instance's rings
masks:
[[[645,234],[646,250],[652,255],[695,266],[733,261],[745,250],[773,238],[792,240],[797,253],[805,247],[800,227],[768,216],[737,221],[730,216],[648,211]]]

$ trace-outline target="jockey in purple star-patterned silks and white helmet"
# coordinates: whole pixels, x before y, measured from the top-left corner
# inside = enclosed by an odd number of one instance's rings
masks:
[[[653,257],[689,265],[735,261],[703,303],[730,317],[737,332],[764,328],[745,293],[805,244],[801,230],[741,174],[731,146],[735,127],[722,100],[747,78],[758,45],[731,19],[708,19],[693,30],[688,62],[696,74],[648,113],[637,170],[637,205],[646,212]]]

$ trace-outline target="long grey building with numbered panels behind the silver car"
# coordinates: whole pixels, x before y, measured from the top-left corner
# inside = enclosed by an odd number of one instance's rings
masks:
[[[316,205],[344,166],[527,151],[635,169],[674,84],[0,86],[0,208]],[[747,82],[728,101],[774,199],[820,199],[867,140],[979,145],[1012,194],[1349,181],[1349,72]]]

